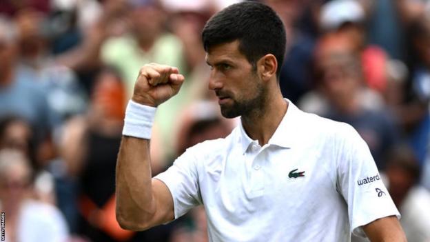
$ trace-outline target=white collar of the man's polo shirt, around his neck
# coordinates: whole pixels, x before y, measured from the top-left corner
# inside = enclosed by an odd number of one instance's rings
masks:
[[[300,123],[300,110],[288,99],[285,99],[288,103],[288,109],[285,113],[282,121],[280,121],[278,128],[276,128],[272,138],[269,139],[269,145],[277,145],[282,148],[291,148],[295,139],[295,133]],[[242,152],[245,154],[249,145],[254,142],[243,128],[242,123],[239,124],[240,128],[240,143],[242,145]]]

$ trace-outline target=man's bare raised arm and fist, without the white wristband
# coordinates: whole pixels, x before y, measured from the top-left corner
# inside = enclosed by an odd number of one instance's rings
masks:
[[[183,81],[177,68],[145,65],[132,101],[150,112],[178,93]],[[150,140],[123,136],[116,163],[116,219],[121,228],[145,230],[174,219],[172,195],[163,182],[152,179],[150,167]]]

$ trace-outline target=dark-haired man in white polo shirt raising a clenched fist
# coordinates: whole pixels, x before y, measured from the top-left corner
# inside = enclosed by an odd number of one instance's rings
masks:
[[[405,241],[399,216],[357,132],[283,99],[278,75],[283,24],[260,3],[238,3],[203,30],[209,88],[224,117],[241,116],[225,139],[188,149],[151,179],[156,106],[178,92],[177,68],[141,68],[127,107],[116,170],[116,217],[145,230],[203,204],[209,241]],[[365,234],[363,233],[365,232]]]

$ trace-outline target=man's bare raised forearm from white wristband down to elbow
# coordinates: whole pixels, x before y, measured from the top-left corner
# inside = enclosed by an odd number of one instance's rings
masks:
[[[154,212],[150,141],[124,136],[116,163],[116,217],[134,229],[145,227]]]

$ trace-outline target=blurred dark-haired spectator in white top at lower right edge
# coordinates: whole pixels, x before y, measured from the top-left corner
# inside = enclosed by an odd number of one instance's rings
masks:
[[[420,166],[408,146],[396,146],[389,152],[386,174],[408,241],[430,241],[430,193],[418,184]]]

